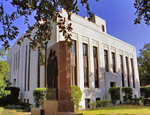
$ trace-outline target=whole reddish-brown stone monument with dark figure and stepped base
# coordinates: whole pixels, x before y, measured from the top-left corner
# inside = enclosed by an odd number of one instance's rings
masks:
[[[47,92],[43,109],[31,109],[32,115],[82,115],[74,113],[71,101],[71,51],[65,41],[47,49]]]

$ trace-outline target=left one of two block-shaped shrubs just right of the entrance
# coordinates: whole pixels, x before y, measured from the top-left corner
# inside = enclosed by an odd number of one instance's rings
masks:
[[[111,102],[114,105],[117,100],[120,100],[120,88],[119,87],[110,87],[109,93],[111,95]]]

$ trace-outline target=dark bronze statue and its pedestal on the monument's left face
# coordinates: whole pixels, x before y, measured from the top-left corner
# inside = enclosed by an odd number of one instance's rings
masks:
[[[47,91],[46,100],[58,100],[58,67],[57,56],[54,50],[50,50],[47,62]]]

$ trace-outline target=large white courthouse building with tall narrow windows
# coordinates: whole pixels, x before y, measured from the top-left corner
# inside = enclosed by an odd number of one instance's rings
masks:
[[[66,16],[64,10],[60,11]],[[72,14],[71,84],[82,91],[80,105],[86,108],[88,102],[110,99],[110,87],[132,87],[133,98],[140,96],[140,82],[137,55],[134,46],[107,34],[106,22],[94,16],[87,18]],[[53,24],[51,40],[45,43],[46,49],[63,41],[58,26]],[[24,33],[21,37],[23,37]],[[31,37],[35,35],[32,31]],[[34,103],[33,90],[46,86],[46,65],[39,65],[38,48],[32,51],[30,40],[25,38],[21,46],[15,43],[10,51],[10,81],[20,87],[20,99]],[[47,51],[43,51],[47,55]],[[47,60],[47,59],[45,59]],[[121,93],[120,101],[123,102]]]

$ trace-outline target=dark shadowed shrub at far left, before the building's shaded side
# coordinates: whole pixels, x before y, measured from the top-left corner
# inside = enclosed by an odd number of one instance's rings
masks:
[[[20,88],[18,88],[18,87],[6,87],[5,90],[10,91],[11,93],[9,95],[3,96],[0,99],[1,105],[5,106],[8,104],[15,104],[19,101],[18,97],[19,97]]]

